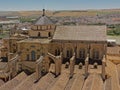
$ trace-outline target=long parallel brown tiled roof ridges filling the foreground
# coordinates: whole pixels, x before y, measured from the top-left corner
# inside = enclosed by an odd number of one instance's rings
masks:
[[[51,66],[52,65],[52,66]],[[55,64],[50,65],[50,70],[55,70]],[[54,74],[48,73],[44,75],[37,83],[35,83],[35,73],[27,76],[24,72],[6,82],[0,87],[0,90],[120,90],[120,65],[113,64],[111,61],[106,62],[107,78],[103,82],[101,77],[101,68],[93,69],[93,65],[89,65],[89,75],[85,79],[85,67],[81,70],[78,65],[74,66],[73,78],[69,79],[69,69],[62,64],[61,75],[54,78]],[[97,83],[96,83],[97,81]],[[1,81],[0,81],[1,82]]]

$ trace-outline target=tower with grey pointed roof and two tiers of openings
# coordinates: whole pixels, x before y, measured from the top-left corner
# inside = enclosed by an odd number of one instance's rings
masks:
[[[29,31],[30,37],[36,38],[52,38],[56,25],[46,16],[45,9],[42,10],[42,15],[36,20]]]

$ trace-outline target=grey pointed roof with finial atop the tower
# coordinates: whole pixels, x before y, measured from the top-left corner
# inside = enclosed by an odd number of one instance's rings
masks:
[[[35,22],[35,25],[51,25],[53,22],[51,19],[47,16],[45,16],[45,9],[43,9],[43,15],[38,18],[38,20]]]

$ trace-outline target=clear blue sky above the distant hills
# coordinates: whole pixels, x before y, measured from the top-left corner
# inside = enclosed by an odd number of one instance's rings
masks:
[[[0,0],[0,11],[120,8],[120,0]]]

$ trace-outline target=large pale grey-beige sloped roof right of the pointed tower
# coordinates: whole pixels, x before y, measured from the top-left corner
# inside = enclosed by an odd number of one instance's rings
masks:
[[[106,26],[57,26],[53,41],[106,41]]]

